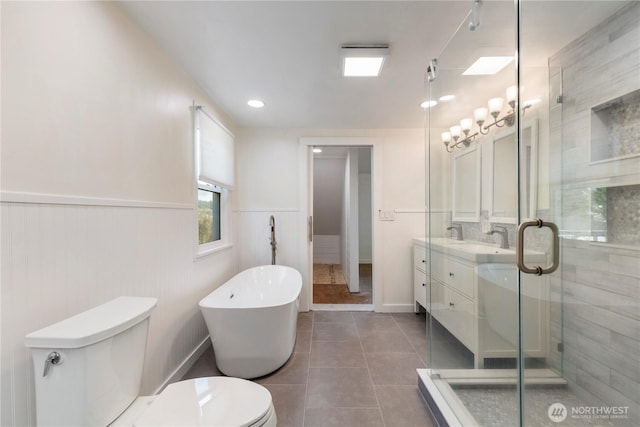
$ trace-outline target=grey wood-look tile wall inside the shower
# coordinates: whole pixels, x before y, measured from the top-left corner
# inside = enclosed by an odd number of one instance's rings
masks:
[[[609,236],[617,236],[613,244],[561,241],[562,265],[550,281],[551,360],[580,398],[594,405],[628,406],[635,420],[640,420],[638,157],[591,163],[589,121],[594,106],[638,90],[638,40],[640,3],[630,2],[549,62],[550,80],[562,81],[552,84],[550,93],[554,100],[550,111],[554,220],[562,224],[570,221],[565,215],[575,214],[557,209],[563,194],[558,183],[565,188],[590,188],[604,179],[617,186],[608,187],[609,209],[617,211],[607,221]],[[563,95],[561,105],[555,104],[559,94]],[[617,120],[629,128],[640,118],[624,114]],[[620,192],[624,196],[616,197]],[[623,237],[620,233],[625,230],[631,234]],[[563,343],[562,352],[559,343]]]

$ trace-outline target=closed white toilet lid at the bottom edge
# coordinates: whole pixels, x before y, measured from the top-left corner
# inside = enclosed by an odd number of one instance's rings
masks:
[[[206,377],[167,386],[135,423],[143,426],[254,424],[271,408],[269,390],[232,377]]]

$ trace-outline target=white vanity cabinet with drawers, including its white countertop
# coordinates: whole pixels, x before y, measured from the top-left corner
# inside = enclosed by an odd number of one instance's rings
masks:
[[[474,368],[485,358],[517,356],[515,251],[433,238],[429,253],[426,240],[415,238],[413,258],[416,309],[423,306],[473,353]],[[525,259],[542,261],[544,254],[525,253]],[[520,286],[524,356],[547,357],[547,279],[523,274]]]

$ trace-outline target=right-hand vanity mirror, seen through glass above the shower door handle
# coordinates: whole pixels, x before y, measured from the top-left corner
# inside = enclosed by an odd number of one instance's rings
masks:
[[[525,122],[522,127],[520,144],[520,209],[521,217],[535,217],[537,182],[537,120]],[[491,167],[489,168],[490,205],[489,221],[507,224],[517,223],[517,168],[516,133],[497,133],[491,142]]]

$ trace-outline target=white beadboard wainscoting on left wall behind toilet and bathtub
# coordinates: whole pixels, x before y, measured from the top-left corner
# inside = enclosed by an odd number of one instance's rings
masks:
[[[27,333],[120,295],[156,297],[141,390],[152,394],[207,337],[198,301],[238,271],[235,247],[194,260],[188,206],[51,202],[0,207],[1,425],[35,425]]]

